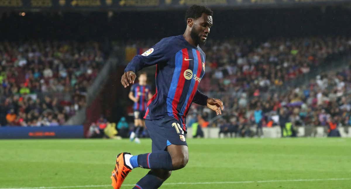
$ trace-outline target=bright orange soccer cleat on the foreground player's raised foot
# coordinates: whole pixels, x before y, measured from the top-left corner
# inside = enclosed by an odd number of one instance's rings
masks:
[[[118,154],[115,168],[112,171],[111,180],[112,180],[112,186],[114,189],[121,188],[121,185],[124,179],[126,178],[128,173],[132,171],[132,169],[126,165],[126,162],[124,159],[125,154],[130,154],[130,153],[123,152]]]

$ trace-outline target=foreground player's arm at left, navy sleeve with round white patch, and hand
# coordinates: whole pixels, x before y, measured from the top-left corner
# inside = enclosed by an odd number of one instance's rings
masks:
[[[137,77],[135,73],[139,70],[155,64],[167,62],[168,58],[172,56],[172,52],[169,50],[169,44],[170,40],[163,38],[143,54],[134,56],[128,63],[126,69],[124,69],[124,74],[121,78],[122,85],[127,87],[129,84],[133,84]]]

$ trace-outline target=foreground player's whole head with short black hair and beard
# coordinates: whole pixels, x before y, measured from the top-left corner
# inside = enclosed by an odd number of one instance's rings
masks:
[[[206,6],[193,5],[185,13],[187,29],[196,44],[205,44],[212,26],[212,10]]]

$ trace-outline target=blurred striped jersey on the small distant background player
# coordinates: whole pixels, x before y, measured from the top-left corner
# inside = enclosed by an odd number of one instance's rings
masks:
[[[133,110],[134,111],[146,111],[147,108],[147,97],[150,93],[150,86],[148,85],[140,85],[139,83],[135,83],[131,87],[131,92],[133,96],[138,100],[138,102],[134,102]]]

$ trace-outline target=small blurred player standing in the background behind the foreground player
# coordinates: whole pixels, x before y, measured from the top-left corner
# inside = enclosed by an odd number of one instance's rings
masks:
[[[146,112],[146,102],[151,99],[152,94],[150,92],[150,86],[146,85],[147,75],[146,72],[142,72],[139,75],[139,83],[135,83],[131,87],[129,92],[129,98],[133,100],[134,106],[134,131],[130,135],[130,140],[140,143],[139,138],[143,133],[145,127],[145,121],[143,117]]]

